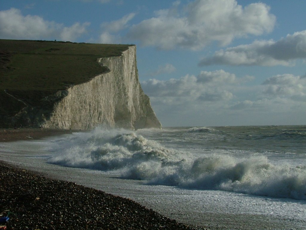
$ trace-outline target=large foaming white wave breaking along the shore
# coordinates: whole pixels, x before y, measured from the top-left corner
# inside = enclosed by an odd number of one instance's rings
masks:
[[[122,129],[96,129],[55,143],[49,163],[114,171],[150,184],[306,200],[306,166],[274,165],[264,156],[199,157]]]

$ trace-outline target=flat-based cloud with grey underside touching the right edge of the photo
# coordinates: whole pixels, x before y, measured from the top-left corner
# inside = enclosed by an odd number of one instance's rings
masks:
[[[202,59],[200,66],[222,65],[294,65],[294,60],[306,58],[306,30],[278,40],[254,41],[252,44],[219,50]]]

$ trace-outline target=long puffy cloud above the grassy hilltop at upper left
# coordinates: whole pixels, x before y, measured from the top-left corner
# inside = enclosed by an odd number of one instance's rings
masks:
[[[64,27],[54,21],[46,21],[37,15],[23,16],[15,8],[0,11],[0,37],[2,39],[62,39],[75,40],[86,33],[88,22]]]

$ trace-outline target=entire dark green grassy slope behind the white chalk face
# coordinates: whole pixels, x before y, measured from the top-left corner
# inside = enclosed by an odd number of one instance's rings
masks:
[[[13,116],[26,106],[51,111],[67,87],[109,71],[98,58],[120,56],[128,47],[0,39],[0,128],[22,123]]]

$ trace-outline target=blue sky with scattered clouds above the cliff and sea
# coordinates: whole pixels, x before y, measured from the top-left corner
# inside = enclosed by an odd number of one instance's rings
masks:
[[[0,0],[0,39],[136,44],[164,127],[306,125],[304,0]]]

